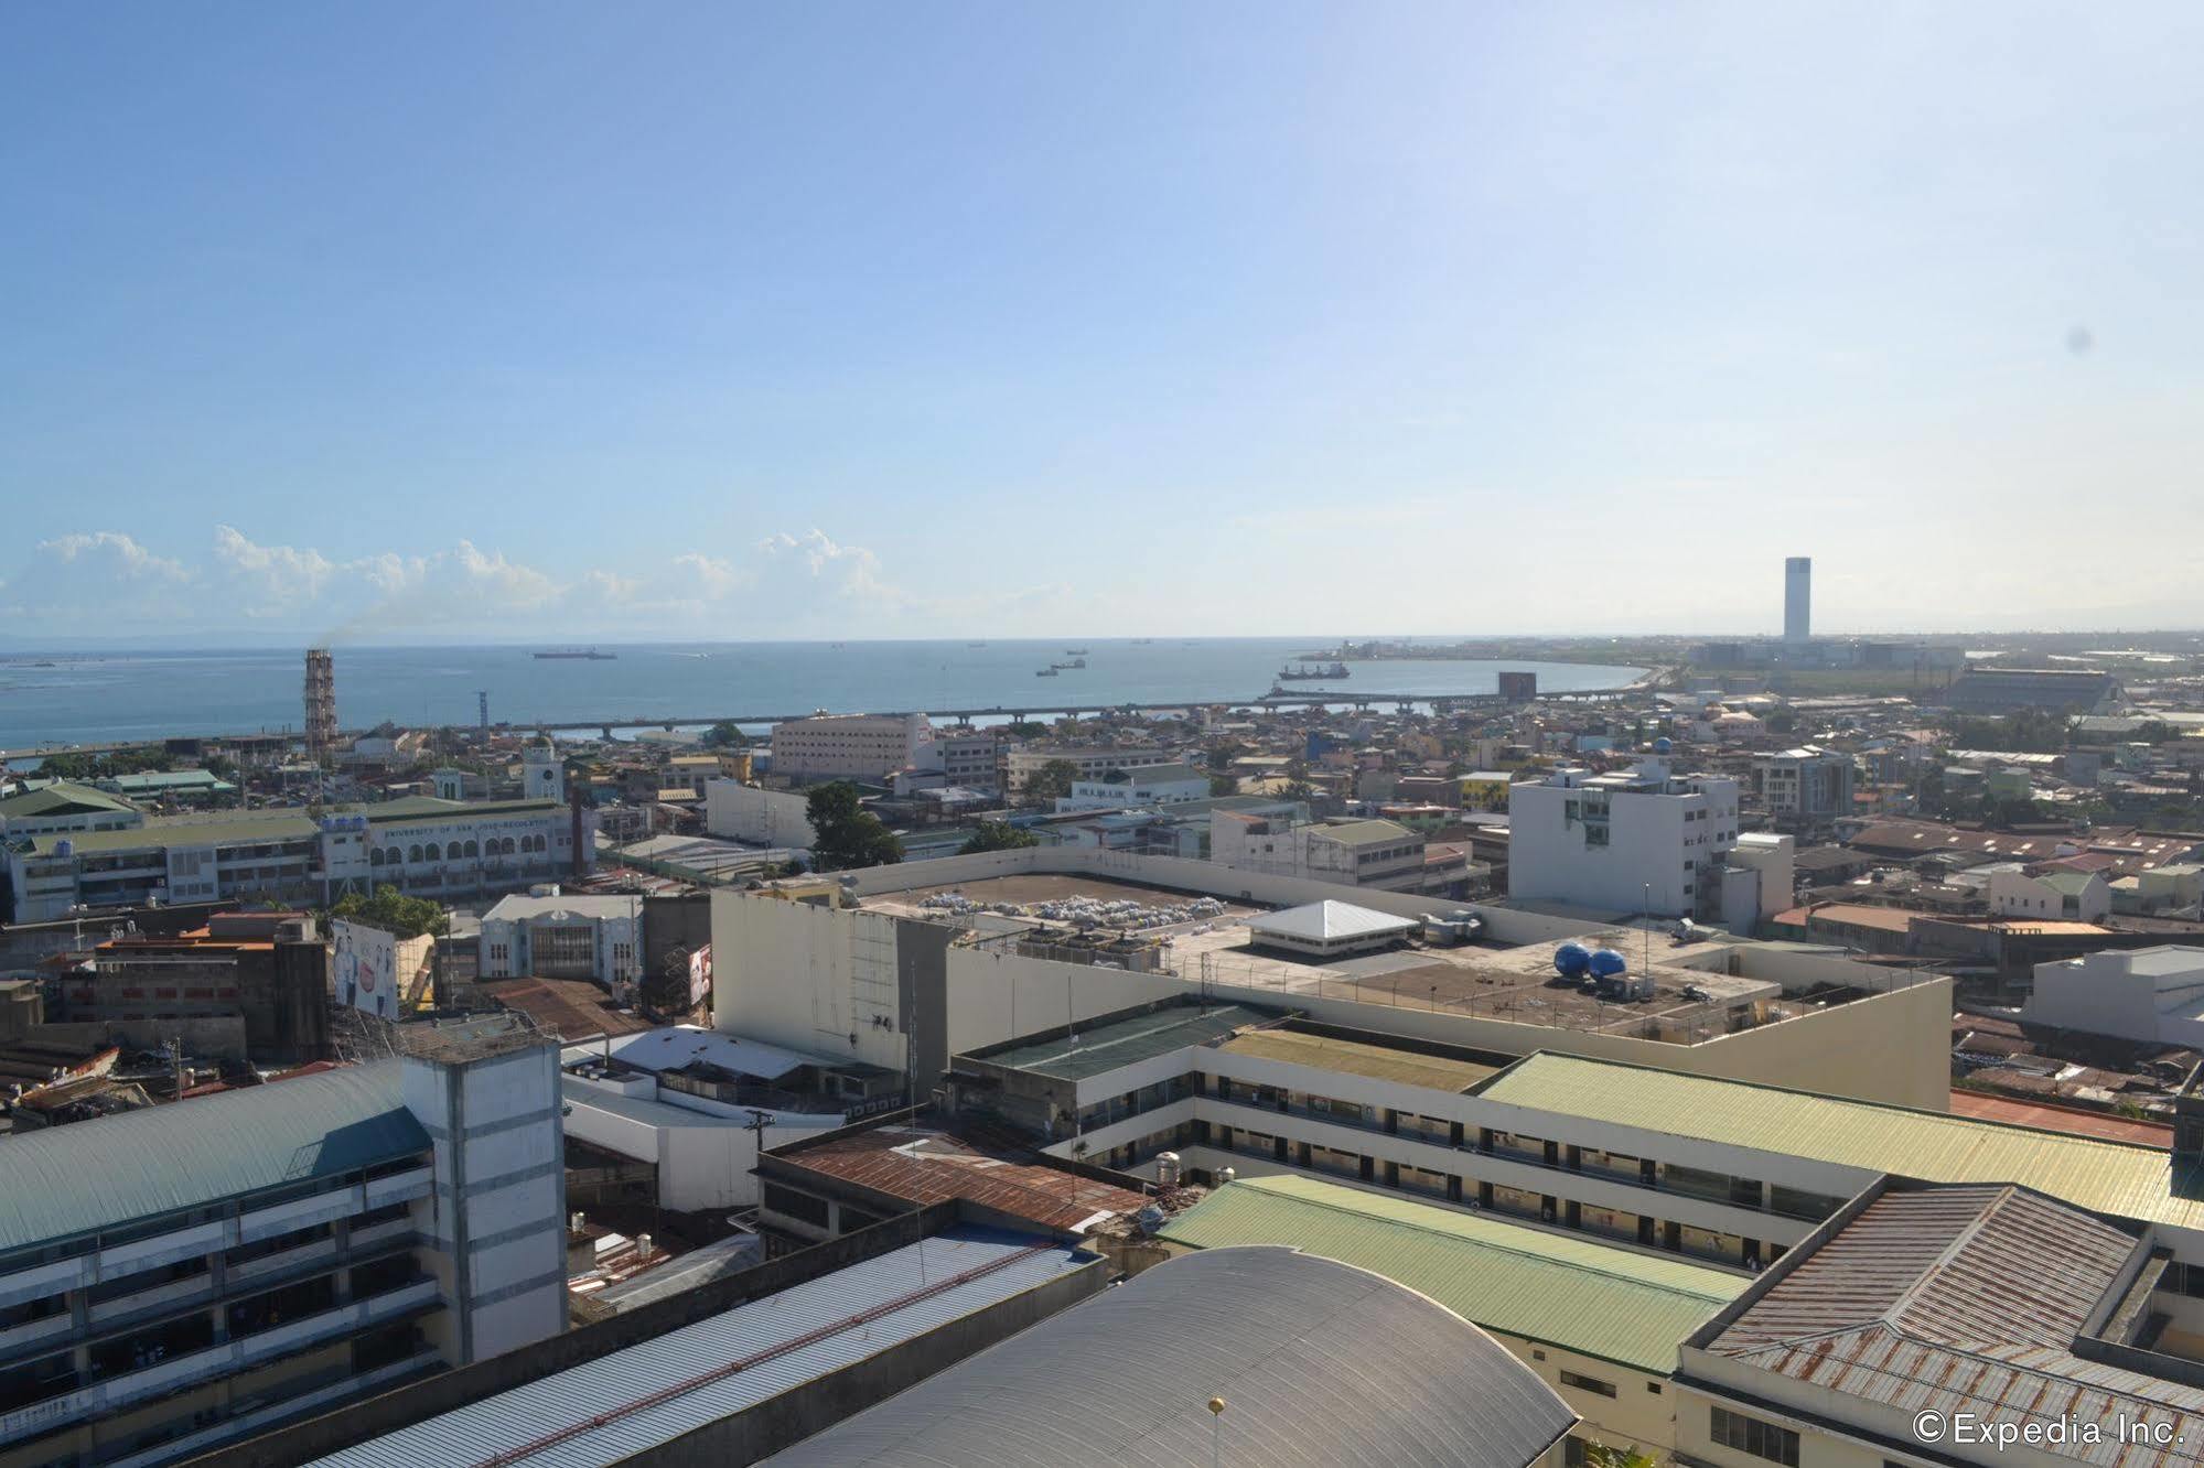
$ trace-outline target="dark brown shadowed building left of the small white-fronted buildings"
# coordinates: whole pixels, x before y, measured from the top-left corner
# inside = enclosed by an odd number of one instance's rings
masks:
[[[60,1021],[159,1049],[181,1029],[203,1056],[320,1060],[328,1054],[328,946],[306,913],[216,913],[174,937],[99,943],[64,974]]]

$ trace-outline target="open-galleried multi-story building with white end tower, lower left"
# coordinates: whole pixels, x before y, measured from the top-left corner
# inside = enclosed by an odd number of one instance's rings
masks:
[[[0,1146],[0,1468],[165,1464],[566,1325],[558,1049],[401,1060]]]

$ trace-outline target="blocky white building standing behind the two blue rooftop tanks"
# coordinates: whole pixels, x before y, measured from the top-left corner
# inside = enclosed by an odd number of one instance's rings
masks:
[[[1737,846],[1737,780],[1580,767],[1508,789],[1508,895],[1602,913],[1706,917]]]

